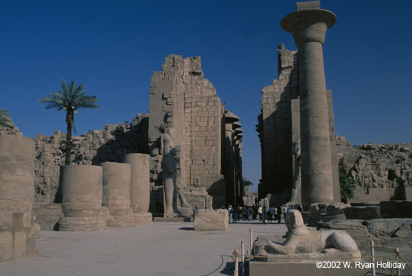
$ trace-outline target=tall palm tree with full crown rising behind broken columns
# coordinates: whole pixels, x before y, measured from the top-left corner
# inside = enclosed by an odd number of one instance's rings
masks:
[[[76,85],[76,82],[71,82],[69,86],[65,80],[61,83],[62,90],[52,92],[47,97],[43,97],[37,102],[47,103],[46,109],[58,108],[58,111],[64,109],[66,111],[66,165],[70,165],[71,154],[71,129],[76,133],[76,126],[74,125],[74,115],[80,108],[99,108],[95,102],[98,102],[95,96],[84,95],[87,91],[84,91],[84,84]]]

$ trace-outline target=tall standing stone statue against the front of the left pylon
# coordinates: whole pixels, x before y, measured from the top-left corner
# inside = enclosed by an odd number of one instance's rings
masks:
[[[176,148],[172,137],[167,134],[162,135],[163,139],[163,160],[161,168],[163,174],[163,202],[164,217],[175,218],[180,212],[176,209]]]

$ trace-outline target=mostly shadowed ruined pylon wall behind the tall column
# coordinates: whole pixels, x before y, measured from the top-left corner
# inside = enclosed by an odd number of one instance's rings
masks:
[[[297,51],[279,45],[279,78],[262,90],[262,183],[259,196],[280,193],[292,183],[291,99],[298,94]],[[295,110],[295,108],[293,109]]]

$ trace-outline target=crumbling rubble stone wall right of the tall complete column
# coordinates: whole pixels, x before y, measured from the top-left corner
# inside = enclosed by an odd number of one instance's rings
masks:
[[[336,139],[339,172],[356,181],[352,202],[411,200],[412,143],[351,146]]]

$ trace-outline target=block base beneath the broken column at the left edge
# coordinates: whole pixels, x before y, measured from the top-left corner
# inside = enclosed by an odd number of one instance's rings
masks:
[[[31,211],[0,211],[0,262],[36,257],[40,225]]]

